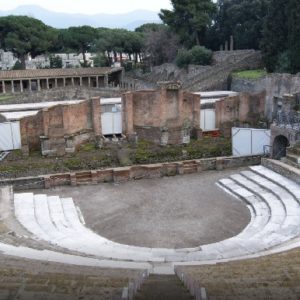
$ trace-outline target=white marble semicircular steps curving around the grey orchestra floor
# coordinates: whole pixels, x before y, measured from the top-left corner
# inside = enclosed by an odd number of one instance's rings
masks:
[[[84,225],[71,198],[20,193],[14,195],[14,208],[17,220],[37,240],[74,251],[83,260],[116,261],[119,265],[123,261],[143,268],[249,257],[300,236],[300,187],[295,182],[256,166],[221,179],[217,185],[247,205],[251,221],[232,238],[195,248],[146,248],[110,241]],[[53,253],[49,257],[58,255]]]

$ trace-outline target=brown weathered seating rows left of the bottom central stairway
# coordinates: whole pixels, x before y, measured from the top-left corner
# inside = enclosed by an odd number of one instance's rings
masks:
[[[0,267],[0,299],[121,299],[132,274],[102,269],[86,275]]]

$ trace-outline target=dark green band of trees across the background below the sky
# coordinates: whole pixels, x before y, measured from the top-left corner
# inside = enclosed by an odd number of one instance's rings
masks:
[[[300,71],[299,0],[171,0],[160,11],[163,24],[145,24],[135,31],[90,26],[56,29],[27,16],[0,17],[0,48],[12,51],[25,68],[28,54],[96,53],[96,66],[123,63],[181,65],[209,63],[210,50],[233,37],[235,49],[262,50],[268,71]],[[210,50],[207,50],[210,49]],[[125,62],[124,62],[125,63]]]

